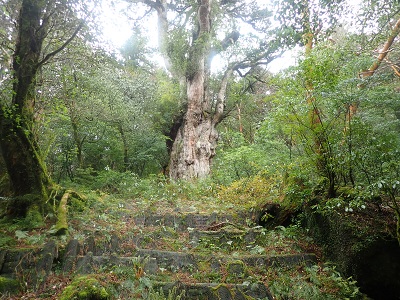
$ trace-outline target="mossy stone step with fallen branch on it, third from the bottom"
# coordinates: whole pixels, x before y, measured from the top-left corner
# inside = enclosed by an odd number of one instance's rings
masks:
[[[209,248],[209,245],[217,245],[228,252],[240,249],[248,251],[252,246],[263,247],[268,243],[273,243],[268,232],[260,226],[249,228],[228,221],[213,223],[205,229],[188,227],[186,231],[178,231],[164,225],[149,226],[133,229],[125,233],[125,236],[112,234],[108,238],[101,232],[96,232],[95,236],[91,235],[83,242],[71,240],[66,248],[67,252],[82,252],[83,254],[92,252],[95,256],[113,253],[123,255],[137,248],[177,251],[199,246]],[[289,250],[290,244],[286,243],[285,247]]]

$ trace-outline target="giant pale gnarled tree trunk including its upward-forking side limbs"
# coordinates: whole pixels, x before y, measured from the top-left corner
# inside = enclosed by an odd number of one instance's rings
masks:
[[[225,50],[235,43],[239,33],[234,31],[221,43],[221,49],[211,49],[211,7],[212,0],[197,0],[196,31],[187,53],[186,66],[182,74],[179,66],[174,67],[174,55],[168,51],[169,24],[167,18],[168,5],[166,0],[138,0],[154,8],[158,14],[158,38],[165,66],[182,88],[182,103],[186,108],[185,114],[179,118],[170,130],[168,136],[173,140],[167,141],[170,153],[169,175],[172,179],[203,178],[210,174],[211,161],[215,155],[218,139],[216,126],[221,122],[225,106],[225,95],[228,79],[233,67],[226,72],[221,82],[217,103],[210,101],[208,80],[210,62],[218,51]],[[195,4],[196,3],[196,4]],[[175,58],[176,60],[176,58]]]

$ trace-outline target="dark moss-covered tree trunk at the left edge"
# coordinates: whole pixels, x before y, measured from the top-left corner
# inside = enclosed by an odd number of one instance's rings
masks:
[[[45,203],[50,184],[32,133],[35,79],[47,25],[42,19],[44,3],[22,2],[13,61],[13,99],[11,106],[3,106],[0,112],[1,150],[16,196],[14,213],[21,216],[32,205]]]

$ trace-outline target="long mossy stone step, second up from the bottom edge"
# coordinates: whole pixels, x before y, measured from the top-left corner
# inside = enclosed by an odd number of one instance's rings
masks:
[[[206,266],[204,262],[207,262]],[[315,254],[300,253],[290,255],[245,255],[232,256],[204,256],[185,252],[172,252],[160,250],[140,249],[129,257],[94,256],[89,252],[84,256],[76,256],[74,260],[64,260],[64,272],[70,272],[76,266],[76,272],[82,274],[95,273],[100,268],[112,266],[143,265],[148,274],[156,274],[162,268],[171,272],[186,271],[195,272],[199,265],[213,272],[223,269],[236,275],[244,274],[248,267],[265,271],[271,267],[291,268],[298,265],[311,266],[317,263]]]

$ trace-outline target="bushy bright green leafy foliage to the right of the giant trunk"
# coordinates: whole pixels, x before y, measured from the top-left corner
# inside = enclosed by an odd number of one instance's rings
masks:
[[[384,166],[392,165],[398,155],[398,94],[393,93],[390,76],[354,78],[358,68],[372,62],[349,55],[351,43],[355,43],[351,38],[337,45],[320,43],[298,67],[277,77],[277,92],[269,96],[274,106],[265,122],[268,130],[259,129],[264,140],[287,147],[289,160],[278,151],[275,160],[289,166],[284,167],[288,178],[298,177],[296,170],[301,170],[308,196],[311,191],[334,197],[342,185],[369,185],[372,178],[386,176]],[[305,82],[312,91],[306,90]],[[364,88],[359,88],[361,84]],[[307,103],[304,97],[310,92],[313,100]],[[359,112],[354,116],[353,106]],[[310,118],[315,112],[318,124]]]

